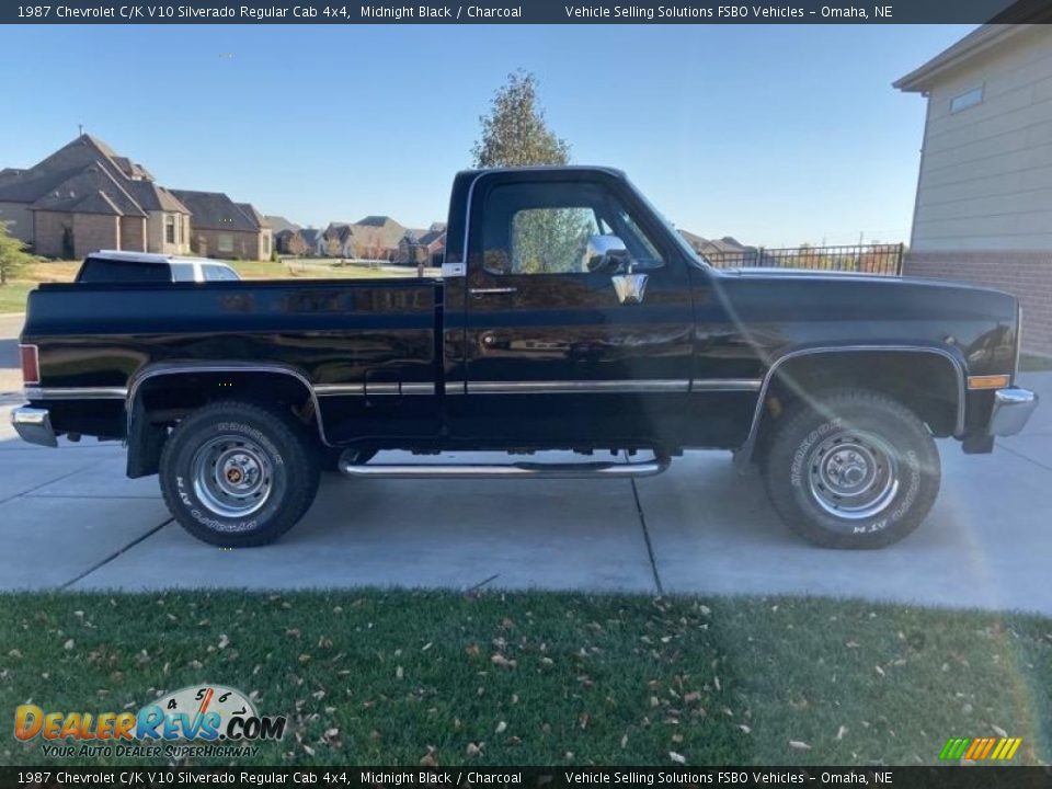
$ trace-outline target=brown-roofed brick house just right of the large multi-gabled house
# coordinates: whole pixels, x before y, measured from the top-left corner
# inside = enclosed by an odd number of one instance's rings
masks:
[[[272,235],[263,215],[249,203],[235,203],[222,192],[172,190],[193,213],[191,250],[206,258],[265,260]]]

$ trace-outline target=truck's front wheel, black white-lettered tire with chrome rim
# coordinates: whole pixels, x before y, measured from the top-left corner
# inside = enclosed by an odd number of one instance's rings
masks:
[[[836,389],[779,421],[764,461],[781,519],[825,548],[883,548],[912,534],[939,492],[924,423],[872,391]]]

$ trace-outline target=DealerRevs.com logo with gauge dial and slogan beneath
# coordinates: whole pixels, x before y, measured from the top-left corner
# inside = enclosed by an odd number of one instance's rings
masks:
[[[138,712],[56,712],[22,705],[14,711],[14,736],[38,737],[45,756],[253,756],[254,743],[285,735],[285,723],[281,716],[260,716],[240,690],[195,685]]]

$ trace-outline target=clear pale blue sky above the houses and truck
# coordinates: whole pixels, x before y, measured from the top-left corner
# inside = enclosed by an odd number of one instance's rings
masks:
[[[444,219],[505,76],[537,75],[578,163],[679,227],[766,245],[908,239],[941,25],[31,26],[8,31],[0,167],[77,125],[165,186],[304,225]],[[14,77],[14,75],[18,75]]]

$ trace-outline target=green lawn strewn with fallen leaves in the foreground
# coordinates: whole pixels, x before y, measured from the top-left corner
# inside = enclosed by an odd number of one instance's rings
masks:
[[[134,711],[206,682],[254,694],[289,730],[249,764],[930,764],[951,735],[998,730],[1022,737],[1015,763],[1052,757],[1052,620],[1017,615],[776,597],[5,594],[0,643],[12,717],[28,699]],[[10,734],[0,754],[46,761]]]

